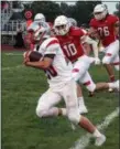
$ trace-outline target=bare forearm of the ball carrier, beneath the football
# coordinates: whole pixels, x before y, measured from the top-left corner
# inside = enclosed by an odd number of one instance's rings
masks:
[[[47,70],[52,65],[54,56],[55,56],[54,54],[46,54],[44,55],[43,60],[40,60],[37,62],[26,61],[24,62],[24,64],[31,67]]]

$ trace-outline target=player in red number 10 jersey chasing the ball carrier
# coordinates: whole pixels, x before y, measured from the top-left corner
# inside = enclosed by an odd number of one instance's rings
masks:
[[[68,19],[65,15],[59,15],[55,19],[54,28],[57,34],[56,38],[59,41],[64,54],[73,63],[73,77],[76,82],[84,84],[89,92],[95,92],[101,88],[107,89],[109,87],[119,88],[119,82],[97,84],[92,82],[91,76],[88,73],[88,68],[92,62],[96,63],[98,61],[98,57],[88,57],[85,54],[81,41],[87,40],[88,36],[80,28],[69,25]]]

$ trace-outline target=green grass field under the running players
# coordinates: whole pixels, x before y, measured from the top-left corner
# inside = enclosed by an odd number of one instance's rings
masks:
[[[2,149],[73,147],[75,141],[86,134],[85,130],[73,131],[69,121],[62,117],[40,119],[35,115],[37,99],[47,89],[44,73],[25,67],[22,64],[22,52],[2,52],[1,61]],[[102,66],[92,66],[90,74],[95,82],[108,81]],[[89,110],[86,116],[94,124],[102,123],[119,105],[117,93],[98,92],[94,97],[88,97],[88,92],[84,88],[84,96]],[[119,149],[119,118],[103,132],[107,141],[99,149]],[[90,143],[86,149],[97,147]]]

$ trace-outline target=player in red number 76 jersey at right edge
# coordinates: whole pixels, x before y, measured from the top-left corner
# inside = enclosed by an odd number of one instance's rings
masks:
[[[110,82],[114,82],[114,73],[112,65],[119,70],[119,19],[113,14],[109,14],[105,4],[97,4],[94,9],[94,18],[90,20],[90,32],[95,38],[100,40],[103,45],[105,56],[102,64],[105,65]]]

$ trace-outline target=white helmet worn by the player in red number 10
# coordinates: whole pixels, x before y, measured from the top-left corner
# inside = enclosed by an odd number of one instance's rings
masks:
[[[65,35],[68,33],[70,23],[65,15],[59,15],[54,21],[54,31],[57,35]]]

